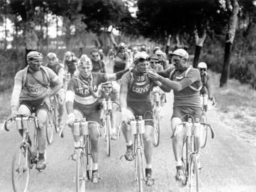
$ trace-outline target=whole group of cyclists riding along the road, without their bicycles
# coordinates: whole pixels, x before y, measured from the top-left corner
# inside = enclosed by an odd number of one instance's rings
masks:
[[[145,50],[138,51],[134,48],[131,54],[126,52],[125,43],[117,45],[112,37],[112,42],[117,51],[113,57],[113,73],[106,73],[105,62],[101,51],[93,49],[88,55],[83,54],[78,59],[73,53],[67,51],[63,64],[55,53],[47,54],[47,67],[42,65],[42,54],[31,51],[27,54],[28,66],[18,71],[15,76],[11,111],[13,118],[16,114],[31,115],[35,113],[39,121],[38,150],[39,159],[37,169],[46,168],[46,120],[50,106],[50,97],[57,94],[59,102],[59,125],[63,124],[64,104],[68,115],[67,123],[72,127],[76,118],[86,118],[87,121],[96,121],[101,124],[101,98],[111,97],[119,101],[122,115],[122,133],[126,140],[125,159],[134,160],[133,142],[130,121],[136,116],[144,119],[152,117],[152,88],[160,88],[161,104],[166,102],[164,92],[173,90],[174,103],[171,118],[172,131],[180,129],[181,118],[190,114],[193,118],[200,118],[200,94],[208,94],[212,99],[210,78],[206,73],[206,63],[199,63],[198,69],[189,65],[189,54],[184,49],[175,50],[168,56],[155,47],[154,54],[149,56]],[[130,56],[132,64],[129,65]],[[168,58],[172,63],[168,63]],[[71,74],[67,90],[63,89],[65,72]],[[118,83],[115,80],[121,79]],[[120,96],[119,96],[120,95]],[[147,113],[151,112],[151,113]],[[116,114],[111,116],[113,121],[113,135],[116,139]],[[146,159],[145,183],[153,185],[155,180],[152,175],[153,158],[153,128],[154,122],[145,122],[146,132],[143,134],[144,151]],[[97,125],[89,124],[89,134],[92,146],[92,182],[97,184],[100,180],[98,171],[98,138]],[[20,132],[21,133],[21,132]],[[22,133],[21,133],[22,134]],[[73,135],[74,154],[80,147],[79,137]],[[177,134],[172,140],[173,152],[176,161],[176,179],[184,179],[180,157],[181,135]],[[200,138],[197,138],[198,154],[200,152]]]

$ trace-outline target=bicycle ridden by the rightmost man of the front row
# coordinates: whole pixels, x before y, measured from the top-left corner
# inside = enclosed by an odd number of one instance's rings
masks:
[[[212,138],[215,136],[214,129],[210,124],[200,123],[199,119],[194,121],[191,115],[184,115],[184,117],[188,117],[187,121],[181,122],[179,125],[176,125],[176,128],[172,134],[172,137],[176,136],[177,128],[180,125],[183,125],[183,143],[182,143],[182,170],[185,175],[185,179],[183,180],[183,185],[189,184],[189,191],[199,192],[199,170],[198,170],[198,162],[197,162],[197,138],[200,134],[200,125],[206,125],[211,130]]]

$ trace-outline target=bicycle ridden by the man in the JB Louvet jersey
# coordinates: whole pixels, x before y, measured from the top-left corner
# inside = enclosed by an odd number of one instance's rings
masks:
[[[132,134],[134,134],[134,156],[135,156],[135,181],[139,192],[143,192],[143,181],[145,173],[143,168],[143,138],[145,133],[145,121],[154,121],[153,119],[142,119],[142,116],[137,116],[130,121]]]

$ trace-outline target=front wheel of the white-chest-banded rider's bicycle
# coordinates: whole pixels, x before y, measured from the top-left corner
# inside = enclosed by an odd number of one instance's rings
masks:
[[[85,190],[85,179],[86,179],[86,165],[85,165],[85,155],[82,149],[77,151],[76,159],[76,192],[82,192]]]

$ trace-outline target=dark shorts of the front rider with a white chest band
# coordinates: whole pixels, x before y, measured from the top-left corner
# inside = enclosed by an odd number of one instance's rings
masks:
[[[86,118],[86,121],[101,123],[101,110],[97,107],[88,108],[84,104],[74,102],[74,109],[78,110]]]

